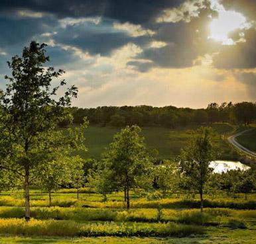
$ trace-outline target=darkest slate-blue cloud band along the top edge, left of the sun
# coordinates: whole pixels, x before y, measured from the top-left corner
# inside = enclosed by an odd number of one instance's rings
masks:
[[[166,8],[177,7],[184,0],[2,0],[1,9],[31,9],[58,17],[102,16],[121,22],[149,22]]]

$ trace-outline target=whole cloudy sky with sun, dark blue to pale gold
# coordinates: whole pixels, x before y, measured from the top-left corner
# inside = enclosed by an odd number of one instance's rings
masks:
[[[0,89],[31,40],[73,106],[256,101],[255,0],[0,0]]]

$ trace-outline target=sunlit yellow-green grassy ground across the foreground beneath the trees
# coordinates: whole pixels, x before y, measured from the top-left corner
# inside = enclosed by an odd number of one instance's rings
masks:
[[[149,200],[132,192],[128,211],[121,192],[109,194],[107,202],[95,193],[81,193],[80,200],[76,200],[75,192],[75,189],[62,189],[54,193],[54,206],[48,208],[47,194],[32,190],[29,223],[23,219],[23,192],[2,192],[0,244],[252,244],[256,241],[256,194],[250,194],[247,201],[242,194],[236,198],[218,196],[214,200],[206,195],[202,215],[198,196],[191,199],[186,195],[170,195]]]

